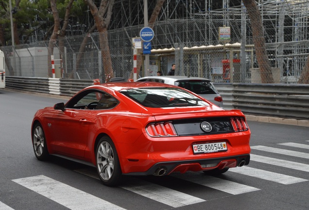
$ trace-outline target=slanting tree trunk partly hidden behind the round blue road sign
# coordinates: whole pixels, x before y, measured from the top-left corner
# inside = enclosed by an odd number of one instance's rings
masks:
[[[154,11],[153,13],[151,14],[151,17],[148,21],[148,27],[150,28],[154,28],[154,23],[155,23],[155,20],[156,18],[158,17],[160,11],[161,11],[161,8],[162,8],[162,5],[164,3],[165,0],[157,0],[156,1],[156,4],[155,4],[155,7],[154,7]],[[140,68],[142,66],[142,62],[143,62],[143,55],[142,55],[142,51],[140,49],[137,50],[137,75],[139,74],[140,72]],[[131,74],[130,74],[130,77],[129,79],[133,79],[133,75],[134,75],[134,68],[133,70],[131,71]]]

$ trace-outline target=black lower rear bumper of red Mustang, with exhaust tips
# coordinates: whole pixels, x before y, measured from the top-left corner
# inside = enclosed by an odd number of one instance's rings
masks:
[[[250,154],[231,157],[218,157],[196,160],[158,162],[145,172],[132,172],[124,175],[169,175],[173,172],[207,171],[212,169],[234,168],[248,165]]]

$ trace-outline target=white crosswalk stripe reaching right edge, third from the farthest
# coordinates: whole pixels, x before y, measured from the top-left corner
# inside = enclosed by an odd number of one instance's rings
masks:
[[[293,161],[283,160],[283,159],[276,159],[273,157],[259,156],[259,155],[254,155],[254,154],[250,154],[250,161],[251,160],[256,161],[256,162],[262,162],[262,163],[267,163],[271,165],[281,166],[285,168],[291,168],[291,169],[295,169],[299,171],[309,172],[309,165],[304,164],[304,163],[298,163],[298,162],[293,162]]]

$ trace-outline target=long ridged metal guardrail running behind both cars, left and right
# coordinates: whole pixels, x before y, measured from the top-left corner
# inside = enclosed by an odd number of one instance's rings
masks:
[[[92,80],[6,77],[6,88],[73,96],[93,85]],[[245,114],[309,119],[309,85],[214,83],[223,97],[224,109]]]

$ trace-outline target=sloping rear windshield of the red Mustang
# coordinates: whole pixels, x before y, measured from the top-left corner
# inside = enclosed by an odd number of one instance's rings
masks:
[[[120,92],[147,107],[209,106],[203,100],[179,88],[133,88]]]

